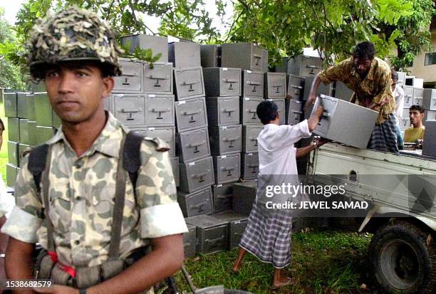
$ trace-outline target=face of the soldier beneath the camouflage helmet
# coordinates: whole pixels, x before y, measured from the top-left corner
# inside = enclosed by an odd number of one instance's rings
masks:
[[[63,123],[92,120],[103,111],[103,98],[112,88],[113,78],[102,78],[100,68],[85,63],[59,65],[46,72],[48,98]]]

